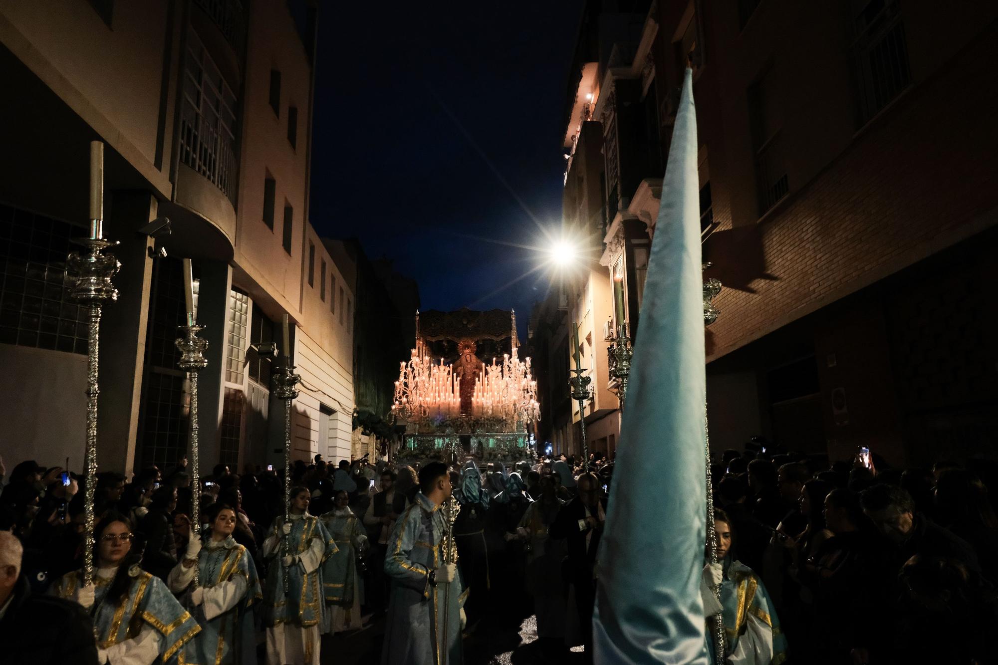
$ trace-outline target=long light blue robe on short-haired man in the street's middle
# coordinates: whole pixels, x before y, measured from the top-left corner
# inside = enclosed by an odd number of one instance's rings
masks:
[[[429,583],[430,571],[443,562],[444,515],[443,509],[419,492],[395,522],[384,559],[384,571],[391,577],[391,600],[382,665],[461,663],[461,607],[467,593],[462,592],[460,578],[450,584]]]

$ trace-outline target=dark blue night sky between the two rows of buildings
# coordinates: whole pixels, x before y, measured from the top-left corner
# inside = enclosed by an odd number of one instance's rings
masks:
[[[489,241],[559,224],[582,3],[350,4],[319,16],[312,225],[393,260],[424,310],[515,308],[522,333],[550,279],[514,280],[544,257]]]

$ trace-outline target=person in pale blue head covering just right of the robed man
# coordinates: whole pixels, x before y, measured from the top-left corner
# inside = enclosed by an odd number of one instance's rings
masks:
[[[474,460],[461,469],[461,484],[454,491],[461,504],[454,522],[457,543],[457,566],[466,589],[473,589],[464,606],[468,625],[481,618],[491,589],[488,546],[485,541],[485,517],[490,505],[489,491],[482,487],[482,476]]]

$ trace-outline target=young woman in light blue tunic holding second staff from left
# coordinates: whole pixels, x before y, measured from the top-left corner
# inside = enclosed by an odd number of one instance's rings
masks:
[[[195,566],[201,586],[186,595],[188,606],[201,624],[201,633],[188,643],[190,663],[242,665],[256,662],[252,605],[262,598],[256,566],[247,548],[236,542],[236,510],[212,506],[208,542],[202,546],[195,534],[187,554],[167,577],[174,593],[189,589]]]

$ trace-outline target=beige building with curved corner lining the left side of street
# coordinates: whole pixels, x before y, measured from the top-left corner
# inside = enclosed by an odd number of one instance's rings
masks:
[[[0,111],[0,356],[19,385],[5,455],[82,467],[87,335],[65,255],[86,233],[91,140],[122,265],[101,326],[101,468],[187,454],[182,258],[209,341],[203,464],[282,464],[284,348],[302,377],[294,456],[349,455],[354,294],[308,222],[316,9],[297,5],[0,2],[5,89],[24,101]]]

